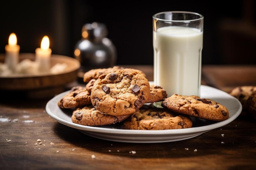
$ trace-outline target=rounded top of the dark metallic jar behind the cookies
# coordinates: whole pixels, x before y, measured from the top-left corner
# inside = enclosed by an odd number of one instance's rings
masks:
[[[108,35],[108,30],[105,24],[99,22],[92,22],[91,24],[84,24],[82,28],[82,38],[97,41],[102,40]]]

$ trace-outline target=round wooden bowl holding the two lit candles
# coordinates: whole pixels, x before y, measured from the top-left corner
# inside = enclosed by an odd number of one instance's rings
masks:
[[[4,63],[4,54],[0,55],[0,62]],[[30,59],[35,60],[34,53],[20,53],[19,60]],[[63,55],[51,56],[51,67],[55,64],[67,64],[65,70],[54,74],[54,73],[38,73],[35,75],[8,75],[0,76],[0,91],[1,90],[36,90],[45,88],[56,88],[60,86],[65,86],[65,84],[73,82],[77,79],[77,72],[80,68],[80,62],[72,57],[67,57]]]

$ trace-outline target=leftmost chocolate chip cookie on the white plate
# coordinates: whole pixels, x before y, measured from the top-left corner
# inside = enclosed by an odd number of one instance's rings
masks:
[[[60,108],[76,108],[92,104],[90,93],[83,86],[74,86],[58,101]]]

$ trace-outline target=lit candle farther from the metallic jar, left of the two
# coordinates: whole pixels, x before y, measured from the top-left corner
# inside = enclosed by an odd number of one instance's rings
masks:
[[[8,45],[5,46],[5,61],[8,68],[15,73],[19,62],[20,46],[17,45],[17,37],[15,33],[11,33],[8,40]]]

